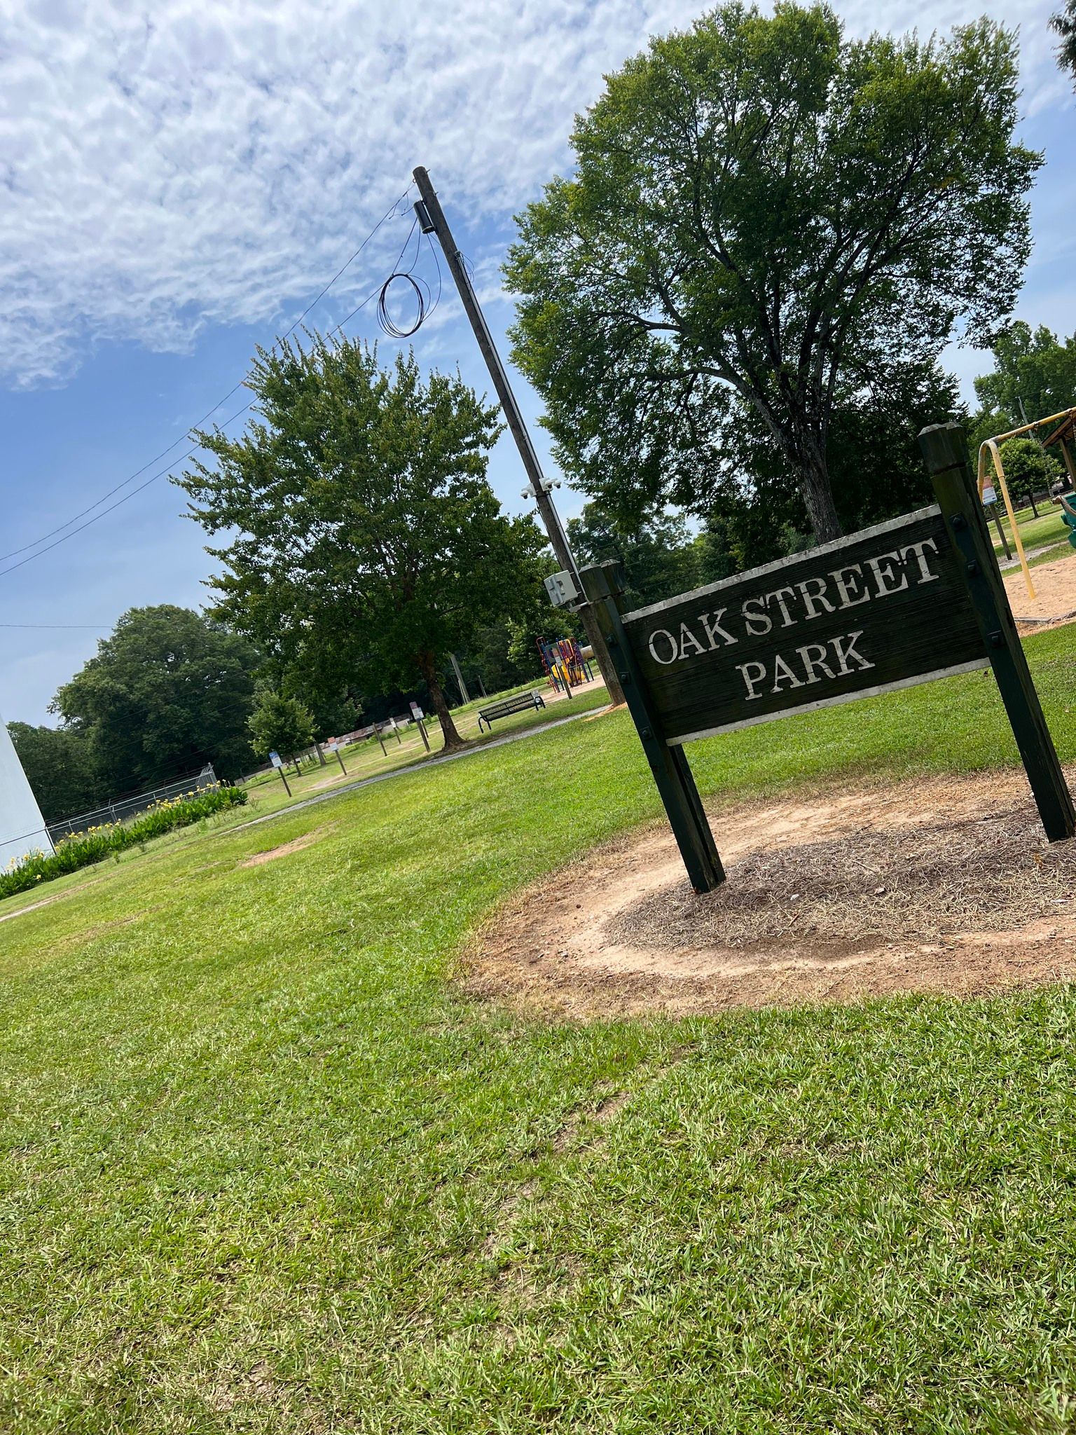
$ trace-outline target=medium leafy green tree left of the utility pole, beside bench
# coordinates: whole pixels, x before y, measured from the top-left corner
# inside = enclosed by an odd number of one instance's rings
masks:
[[[258,419],[201,441],[215,466],[179,479],[189,512],[228,542],[218,611],[303,692],[426,683],[446,748],[449,651],[509,617],[542,547],[486,482],[498,433],[458,376],[423,380],[413,356],[383,369],[362,344],[313,339],[258,350]]]

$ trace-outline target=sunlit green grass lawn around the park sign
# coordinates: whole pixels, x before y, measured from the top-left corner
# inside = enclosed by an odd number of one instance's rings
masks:
[[[1076,629],[1027,650],[1073,761]],[[690,756],[727,802],[1016,763],[984,674]],[[0,923],[0,1429],[1072,1428],[1070,989],[565,1025],[453,986],[657,815],[614,713]]]

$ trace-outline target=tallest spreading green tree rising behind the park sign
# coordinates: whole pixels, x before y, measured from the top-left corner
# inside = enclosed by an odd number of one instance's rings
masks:
[[[1011,310],[1040,164],[1016,100],[1014,37],[988,20],[849,42],[826,6],[730,3],[653,40],[577,122],[575,172],[506,265],[568,472],[712,485],[736,396],[835,537],[835,409]]]

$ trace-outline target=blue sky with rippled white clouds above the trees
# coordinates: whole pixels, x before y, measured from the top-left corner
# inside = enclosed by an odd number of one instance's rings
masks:
[[[512,214],[565,168],[572,115],[597,98],[603,73],[700,9],[0,0],[0,552],[33,544],[181,441],[242,377],[254,344],[271,343],[336,273],[416,164],[476,265],[501,339],[511,304],[498,265]],[[862,0],[838,9],[852,33],[877,24]],[[947,30],[980,13],[960,0],[897,3],[885,23]],[[1053,63],[1050,6],[988,13],[1020,24],[1023,133],[1047,156],[1017,314],[1072,333],[1075,112]],[[409,214],[390,220],[308,323],[343,319],[387,273],[409,224]],[[373,306],[347,333],[377,337]],[[450,293],[415,342],[423,363],[459,364],[489,387]],[[945,357],[970,393],[984,356]],[[506,439],[491,478],[506,507],[524,507]],[[578,509],[568,489],[558,497],[565,514]],[[46,709],[57,686],[126,608],[207,600],[212,564],[182,507],[161,478],[70,541],[0,561],[39,554],[0,575],[0,623],[86,624],[0,627],[6,719],[55,722]]]

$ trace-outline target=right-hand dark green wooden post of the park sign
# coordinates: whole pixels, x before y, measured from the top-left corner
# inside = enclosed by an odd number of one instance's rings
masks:
[[[1052,842],[1063,842],[1076,835],[1076,811],[1016,631],[964,430],[958,423],[935,423],[920,433],[920,448],[948,535],[964,558],[971,607],[1046,835]]]

